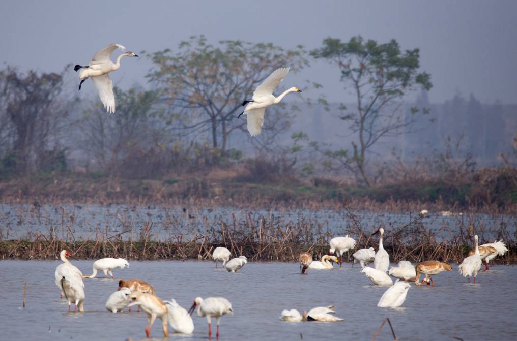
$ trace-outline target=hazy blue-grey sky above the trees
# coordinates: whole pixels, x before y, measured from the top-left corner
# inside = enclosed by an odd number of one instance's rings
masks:
[[[362,35],[379,42],[395,38],[403,49],[420,48],[422,70],[431,73],[434,84],[432,102],[460,90],[482,102],[517,103],[517,1],[20,0],[3,2],[1,8],[0,61],[22,70],[87,64],[112,42],[137,53],[153,52],[174,50],[179,41],[204,34],[211,42],[240,39],[314,49],[329,36]],[[123,59],[122,64],[113,74],[116,84],[146,82],[148,60]],[[303,86],[305,79],[323,84],[330,100],[344,98],[339,73],[323,62],[290,74],[285,85]],[[92,84],[86,88],[95,92]]]

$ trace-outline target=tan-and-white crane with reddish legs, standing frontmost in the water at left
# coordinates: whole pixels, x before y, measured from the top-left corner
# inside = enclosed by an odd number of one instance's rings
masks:
[[[151,327],[157,317],[162,320],[163,336],[169,337],[169,328],[167,325],[167,322],[169,322],[169,311],[165,303],[163,303],[158,296],[141,291],[132,292],[131,302],[128,306],[132,307],[133,305],[142,307],[142,310],[147,314],[147,324],[144,329],[147,338],[151,337]]]

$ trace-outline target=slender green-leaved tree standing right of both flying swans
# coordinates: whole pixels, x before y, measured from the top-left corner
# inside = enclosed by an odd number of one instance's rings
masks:
[[[366,167],[367,151],[381,138],[412,131],[416,114],[429,113],[414,107],[410,115],[404,115],[401,110],[408,92],[417,87],[425,90],[432,87],[430,74],[419,71],[420,51],[402,51],[396,40],[379,44],[357,36],[348,42],[327,38],[321,48],[311,51],[311,55],[339,68],[345,90],[351,91],[357,102],[351,110],[341,105],[340,119],[348,122],[349,128],[357,135],[352,142],[352,154],[345,149],[322,152],[341,162],[345,168],[359,172],[370,187],[372,180]]]

